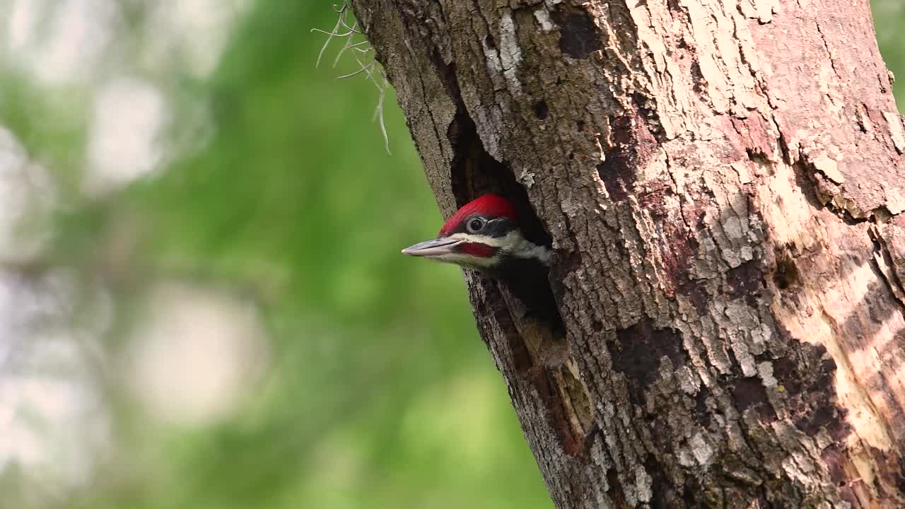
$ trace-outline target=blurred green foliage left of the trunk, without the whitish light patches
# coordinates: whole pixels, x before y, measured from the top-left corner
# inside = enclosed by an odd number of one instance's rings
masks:
[[[905,11],[874,5],[889,67],[905,72]],[[176,104],[209,104],[209,141],[100,199],[81,197],[73,163],[85,98],[0,78],[0,124],[67,191],[52,263],[96,284],[120,232],[140,232],[104,280],[118,330],[141,312],[142,288],[181,278],[257,303],[271,340],[266,382],[209,427],[149,422],[114,384],[117,449],[54,505],[551,507],[459,270],[398,254],[442,219],[395,98],[387,156],[373,86],[335,80],[354,70],[348,59],[315,68],[324,37],[309,29],[334,23],[326,2],[254,2],[210,79],[163,77]],[[117,334],[105,341],[119,348]],[[5,500],[32,505],[6,487]]]

